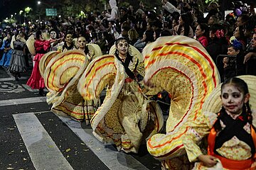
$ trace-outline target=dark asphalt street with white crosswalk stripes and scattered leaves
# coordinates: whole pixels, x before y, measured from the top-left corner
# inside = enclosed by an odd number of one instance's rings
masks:
[[[138,154],[117,152],[90,126],[50,111],[46,97],[0,68],[0,169],[161,169],[143,144]]]

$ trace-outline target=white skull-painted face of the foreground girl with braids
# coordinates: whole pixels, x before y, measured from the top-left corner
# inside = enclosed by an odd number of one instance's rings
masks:
[[[242,113],[242,106],[248,101],[245,95],[233,84],[225,84],[221,93],[221,101],[227,113],[238,115]]]

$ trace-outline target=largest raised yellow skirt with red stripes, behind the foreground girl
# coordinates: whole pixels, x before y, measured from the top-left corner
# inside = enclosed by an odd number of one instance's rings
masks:
[[[149,138],[147,149],[163,169],[191,169],[182,137],[191,121],[202,115],[204,101],[220,83],[218,69],[200,42],[182,35],[158,38],[142,55],[144,81],[171,97],[166,134]]]

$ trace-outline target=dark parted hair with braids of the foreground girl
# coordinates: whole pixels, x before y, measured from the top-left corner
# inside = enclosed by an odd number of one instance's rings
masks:
[[[226,79],[223,84],[221,85],[221,92],[223,91],[223,88],[226,84],[233,84],[234,86],[237,86],[240,91],[242,91],[242,94],[248,94],[249,89],[246,84],[246,82],[238,77],[232,77],[230,79]],[[242,107],[242,112],[247,113],[247,122],[252,125],[252,111],[250,109],[249,101],[245,103],[245,105]],[[225,113],[225,108],[221,108],[220,113],[218,114],[218,118],[221,118],[221,116]],[[221,130],[220,121],[216,121],[214,124],[215,130],[218,132]]]

